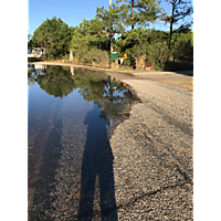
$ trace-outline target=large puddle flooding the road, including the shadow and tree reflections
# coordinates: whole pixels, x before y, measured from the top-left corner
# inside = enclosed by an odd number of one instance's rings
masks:
[[[135,99],[103,72],[28,66],[28,220],[117,220],[109,137]]]

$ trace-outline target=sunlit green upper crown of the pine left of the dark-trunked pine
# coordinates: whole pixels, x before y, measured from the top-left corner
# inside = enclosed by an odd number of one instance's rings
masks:
[[[123,0],[117,0],[120,3]],[[120,18],[126,27],[136,24],[147,27],[149,22],[155,22],[161,11],[158,0],[124,0],[122,4]]]

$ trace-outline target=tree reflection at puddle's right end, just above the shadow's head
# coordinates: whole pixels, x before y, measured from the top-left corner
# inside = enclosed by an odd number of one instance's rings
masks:
[[[81,82],[78,93],[87,102],[93,101],[103,109],[101,118],[118,118],[126,106],[135,99],[129,90],[125,88],[122,84],[118,84],[117,88],[113,88],[110,82],[116,81],[112,81],[110,76],[102,72],[78,69],[76,77]]]

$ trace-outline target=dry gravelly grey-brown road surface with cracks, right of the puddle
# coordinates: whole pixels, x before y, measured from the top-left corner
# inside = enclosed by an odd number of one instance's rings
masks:
[[[110,139],[118,220],[193,220],[192,93],[123,81],[143,103]]]

